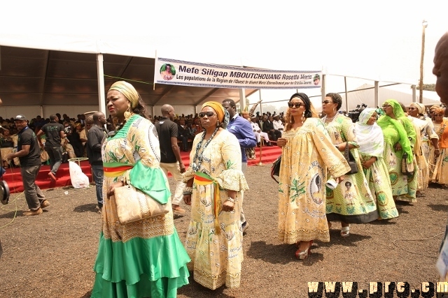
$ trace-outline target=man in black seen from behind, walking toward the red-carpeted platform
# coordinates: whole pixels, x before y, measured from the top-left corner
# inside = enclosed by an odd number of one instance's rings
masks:
[[[59,118],[56,115],[50,115],[50,123],[42,126],[41,130],[37,133],[37,140],[42,145],[41,135],[45,133],[45,151],[47,151],[50,157],[51,170],[48,176],[53,181],[56,181],[56,172],[62,163],[62,144],[61,139],[65,137],[64,126],[58,123]]]

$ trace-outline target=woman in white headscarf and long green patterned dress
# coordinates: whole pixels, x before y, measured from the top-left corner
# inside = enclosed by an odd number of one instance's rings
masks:
[[[355,124],[356,139],[363,171],[369,181],[370,192],[377,202],[378,219],[389,219],[397,217],[398,211],[393,202],[391,179],[383,158],[383,131],[376,121],[375,109],[363,110]]]

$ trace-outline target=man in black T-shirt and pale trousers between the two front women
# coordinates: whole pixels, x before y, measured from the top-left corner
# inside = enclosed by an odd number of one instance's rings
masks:
[[[177,146],[178,126],[173,122],[176,112],[171,105],[163,105],[161,112],[162,117],[158,124],[155,124],[160,142],[160,167],[167,177],[168,172],[171,172],[176,179],[176,191],[172,198],[173,211],[185,213],[185,210],[179,206],[183,199],[183,188],[185,187],[182,181],[182,173],[186,171],[186,168],[182,162],[179,146]]]

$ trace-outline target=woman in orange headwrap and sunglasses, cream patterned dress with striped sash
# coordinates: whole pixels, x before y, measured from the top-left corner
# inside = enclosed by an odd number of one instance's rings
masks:
[[[199,117],[204,132],[196,135],[183,174],[183,200],[191,205],[185,243],[192,260],[188,267],[206,288],[237,288],[243,261],[241,191],[248,189],[241,148],[237,137],[225,130],[229,113],[221,103],[204,103]]]

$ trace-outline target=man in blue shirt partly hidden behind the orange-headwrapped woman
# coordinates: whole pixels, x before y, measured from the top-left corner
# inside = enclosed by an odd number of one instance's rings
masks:
[[[247,169],[247,158],[246,158],[246,148],[253,148],[257,145],[255,140],[255,135],[252,131],[251,124],[246,121],[243,117],[240,117],[237,113],[237,105],[232,99],[225,99],[223,101],[223,107],[229,112],[229,124],[227,130],[230,131],[235,137],[237,137],[239,142],[239,147],[241,148],[241,171],[246,173]],[[242,194],[242,192],[241,192]],[[246,216],[244,216],[243,211],[243,198],[241,198],[241,228],[243,233],[246,232],[248,228],[248,223],[246,222]]]

